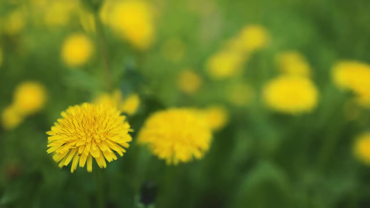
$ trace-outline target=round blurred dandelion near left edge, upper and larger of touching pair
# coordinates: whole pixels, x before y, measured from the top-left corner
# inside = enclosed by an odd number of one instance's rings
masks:
[[[22,115],[40,111],[46,103],[44,85],[35,81],[20,83],[14,91],[14,106]]]

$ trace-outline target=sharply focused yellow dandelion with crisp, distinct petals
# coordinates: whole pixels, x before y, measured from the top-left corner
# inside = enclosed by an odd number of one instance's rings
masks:
[[[128,134],[130,125],[125,116],[116,108],[104,105],[83,103],[69,107],[61,113],[63,118],[46,132],[49,149],[47,153],[55,152],[53,159],[59,162],[59,167],[67,166],[72,161],[71,172],[77,169],[77,164],[87,171],[92,171],[92,158],[95,158],[100,168],[106,168],[107,163],[117,160],[116,151],[120,156],[128,148],[132,140]]]

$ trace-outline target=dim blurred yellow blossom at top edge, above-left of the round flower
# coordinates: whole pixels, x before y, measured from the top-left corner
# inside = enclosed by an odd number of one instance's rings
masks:
[[[66,26],[77,8],[78,1],[75,0],[49,1],[44,14],[44,22],[49,27]]]

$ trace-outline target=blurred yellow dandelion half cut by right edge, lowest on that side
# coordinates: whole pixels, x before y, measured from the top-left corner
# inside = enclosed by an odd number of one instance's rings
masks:
[[[370,132],[365,132],[356,138],[354,154],[361,161],[370,165]]]

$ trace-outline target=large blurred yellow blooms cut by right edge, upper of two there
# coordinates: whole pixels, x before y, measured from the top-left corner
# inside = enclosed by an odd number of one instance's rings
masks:
[[[370,65],[359,61],[340,61],[333,67],[334,82],[353,91],[358,103],[370,106]]]

